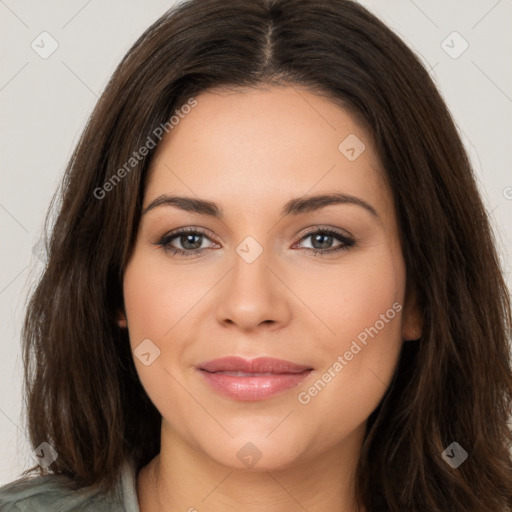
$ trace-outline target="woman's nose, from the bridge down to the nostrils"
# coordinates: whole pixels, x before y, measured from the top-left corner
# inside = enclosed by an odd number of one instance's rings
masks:
[[[270,249],[261,247],[261,254],[252,260],[243,252],[247,248],[248,253],[257,249],[250,244],[239,246],[233,267],[217,290],[217,321],[246,332],[260,325],[270,330],[279,329],[291,318],[290,297],[293,295],[284,284],[286,278],[280,275],[283,272]]]

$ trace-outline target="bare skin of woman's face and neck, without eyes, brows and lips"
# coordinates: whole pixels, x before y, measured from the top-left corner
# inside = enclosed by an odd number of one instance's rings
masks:
[[[163,417],[161,452],[137,476],[140,509],[355,511],[366,420],[391,381],[403,340],[421,334],[420,315],[405,295],[391,190],[369,135],[329,99],[296,86],[217,90],[196,99],[157,148],[143,209],[176,194],[213,201],[224,218],[152,208],[124,276],[120,325],[132,349],[150,339],[160,350],[149,366],[134,357]],[[349,134],[366,146],[354,161],[338,149]],[[378,216],[335,204],[281,217],[292,198],[332,192],[366,201]],[[207,234],[192,249],[179,236],[170,245],[203,252],[187,258],[155,245],[187,226]],[[314,226],[357,242],[315,256],[311,248],[342,242],[313,245],[315,237],[305,232]],[[248,236],[263,249],[252,263],[236,252]],[[300,403],[298,393],[393,304],[403,308]],[[297,388],[240,402],[217,394],[197,370],[226,355],[277,357],[314,370]],[[237,457],[248,442],[261,454],[252,467]]]

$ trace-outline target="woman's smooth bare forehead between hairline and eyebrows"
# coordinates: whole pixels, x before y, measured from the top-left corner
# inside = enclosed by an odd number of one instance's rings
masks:
[[[369,134],[329,99],[296,86],[214,90],[195,99],[157,148],[145,205],[179,192],[226,212],[277,212],[290,197],[336,191],[393,216]]]

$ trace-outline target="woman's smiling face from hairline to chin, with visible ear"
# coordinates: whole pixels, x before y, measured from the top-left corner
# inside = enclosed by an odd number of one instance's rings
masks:
[[[158,146],[124,276],[163,433],[265,470],[355,446],[419,335],[369,136],[297,87],[196,100]]]

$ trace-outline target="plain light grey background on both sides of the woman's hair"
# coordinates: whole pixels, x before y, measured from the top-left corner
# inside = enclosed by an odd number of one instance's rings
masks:
[[[512,1],[360,3],[420,55],[452,111],[479,176],[510,284]],[[33,247],[46,209],[116,65],[172,5],[0,0],[0,485],[33,463],[22,410],[20,329],[27,292],[42,269]],[[58,43],[46,59],[31,47],[34,42],[40,53],[51,49],[43,31]],[[466,51],[453,58],[465,41]]]

